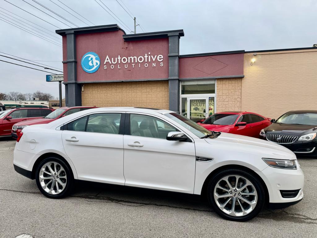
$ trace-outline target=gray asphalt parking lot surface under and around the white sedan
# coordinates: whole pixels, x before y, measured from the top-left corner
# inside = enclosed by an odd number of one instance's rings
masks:
[[[82,182],[70,197],[46,198],[35,181],[14,171],[14,146],[0,138],[0,237],[317,237],[317,159],[299,158],[300,203],[233,222],[199,196],[148,189]]]

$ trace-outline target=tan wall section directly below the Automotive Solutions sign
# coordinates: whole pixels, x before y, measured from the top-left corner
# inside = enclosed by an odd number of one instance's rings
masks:
[[[86,83],[84,106],[169,108],[168,81]]]

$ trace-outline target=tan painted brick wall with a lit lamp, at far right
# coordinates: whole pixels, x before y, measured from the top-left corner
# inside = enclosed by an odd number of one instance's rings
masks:
[[[317,109],[317,49],[244,55],[243,111],[277,119],[298,109]]]

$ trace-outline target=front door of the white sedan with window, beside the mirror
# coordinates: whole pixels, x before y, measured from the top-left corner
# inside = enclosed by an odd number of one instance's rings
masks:
[[[126,115],[123,136],[125,185],[193,193],[194,142],[168,141],[169,131],[179,130],[152,115]]]

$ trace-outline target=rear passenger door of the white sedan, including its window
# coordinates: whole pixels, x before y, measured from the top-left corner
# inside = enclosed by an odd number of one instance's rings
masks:
[[[124,185],[124,115],[98,112],[64,125],[64,149],[74,164],[78,179]],[[114,124],[118,119],[119,129]]]

